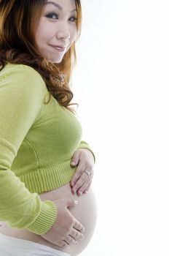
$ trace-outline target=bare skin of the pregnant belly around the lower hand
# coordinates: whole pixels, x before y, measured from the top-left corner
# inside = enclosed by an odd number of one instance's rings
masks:
[[[22,238],[25,240],[34,241],[39,244],[44,244],[54,249],[59,249],[60,251],[67,252],[72,256],[79,255],[85,249],[87,244],[89,244],[95,229],[97,208],[93,189],[90,188],[87,194],[82,194],[80,196],[76,194],[73,195],[71,193],[70,184],[68,183],[58,189],[54,189],[50,192],[44,192],[39,195],[39,197],[41,197],[42,200],[56,200],[66,197],[71,197],[74,198],[74,200],[78,200],[78,204],[74,206],[74,208],[69,208],[71,214],[73,214],[74,217],[79,220],[79,222],[81,222],[85,228],[84,239],[79,241],[78,246],[68,246],[68,248],[66,249],[61,249],[59,246],[56,246],[55,244],[51,244],[50,242],[46,241],[44,238],[42,238],[42,236],[31,233],[30,231],[25,229],[18,230],[13,227],[9,227],[6,222],[1,222],[0,233],[15,238]]]

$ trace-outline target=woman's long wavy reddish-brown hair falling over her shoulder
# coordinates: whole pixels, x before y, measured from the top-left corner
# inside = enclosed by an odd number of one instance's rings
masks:
[[[44,59],[35,46],[35,32],[47,0],[0,0],[0,70],[7,62],[34,68],[60,105],[69,108],[73,93],[69,88],[71,71],[76,64],[75,42],[59,64]],[[80,0],[74,0],[77,10],[77,38],[82,26]],[[73,110],[74,112],[74,110]]]

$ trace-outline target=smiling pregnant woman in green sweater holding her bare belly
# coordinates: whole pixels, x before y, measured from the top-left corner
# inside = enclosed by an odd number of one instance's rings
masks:
[[[0,255],[79,255],[95,155],[71,107],[79,0],[0,0]]]

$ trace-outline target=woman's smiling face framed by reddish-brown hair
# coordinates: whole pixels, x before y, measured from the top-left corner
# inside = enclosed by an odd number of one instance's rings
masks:
[[[60,63],[76,39],[74,0],[47,0],[36,29],[36,46],[42,56]]]

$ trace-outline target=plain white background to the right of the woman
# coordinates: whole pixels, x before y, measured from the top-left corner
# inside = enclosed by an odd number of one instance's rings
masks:
[[[72,78],[96,155],[81,256],[169,255],[169,1],[83,0]]]

